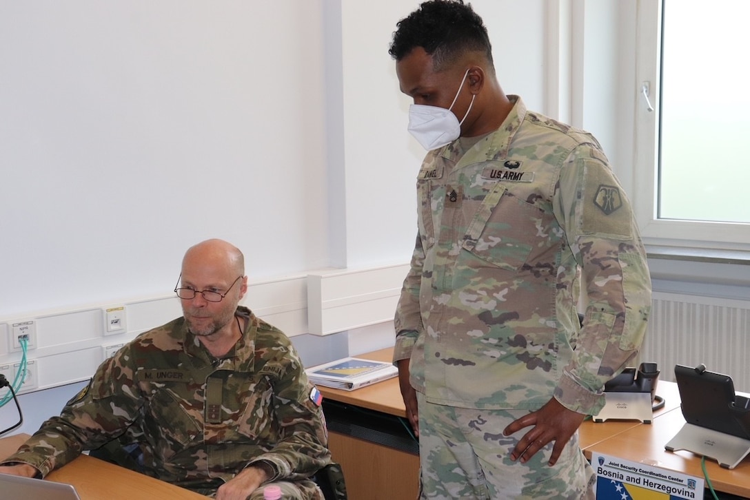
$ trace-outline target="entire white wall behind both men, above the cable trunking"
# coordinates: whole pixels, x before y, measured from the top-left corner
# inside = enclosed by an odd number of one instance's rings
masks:
[[[251,280],[407,260],[424,151],[387,51],[418,4],[0,4],[0,318],[168,293],[213,236]],[[544,0],[473,4],[544,111]]]

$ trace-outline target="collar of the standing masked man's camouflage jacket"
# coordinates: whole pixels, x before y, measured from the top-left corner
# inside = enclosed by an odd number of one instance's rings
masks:
[[[523,123],[523,119],[526,117],[526,104],[520,96],[508,95],[508,99],[513,103],[511,112],[502,121],[502,124],[494,132],[490,132],[485,141],[489,141],[487,148],[472,148],[466,151],[466,154],[462,154],[460,151],[460,145],[458,139],[451,142],[449,145],[444,147],[440,151],[440,155],[446,160],[456,161],[455,169],[460,169],[463,166],[472,165],[483,161],[490,160],[501,160],[508,157],[508,149],[510,148],[513,136],[520,128],[520,124]]]

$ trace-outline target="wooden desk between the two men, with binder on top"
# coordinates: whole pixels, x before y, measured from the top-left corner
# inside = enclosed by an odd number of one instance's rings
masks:
[[[381,349],[358,355],[377,361],[391,361],[393,349]],[[344,391],[319,387],[323,397],[359,408],[406,418],[398,378]],[[419,494],[419,456],[379,445],[365,439],[329,433],[333,460],[344,469],[347,494],[355,500],[413,500]]]

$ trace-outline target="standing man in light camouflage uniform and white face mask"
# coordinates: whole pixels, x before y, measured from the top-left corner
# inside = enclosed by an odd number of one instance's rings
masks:
[[[422,3],[389,52],[429,150],[394,356],[422,498],[593,498],[577,429],[651,304],[628,199],[594,137],[505,95],[470,5]]]

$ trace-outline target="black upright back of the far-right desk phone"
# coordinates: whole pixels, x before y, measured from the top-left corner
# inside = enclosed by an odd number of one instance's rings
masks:
[[[678,364],[674,367],[674,377],[682,403],[682,416],[688,424],[750,439],[750,433],[730,411],[730,404],[735,399],[730,376]]]

